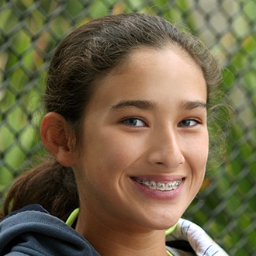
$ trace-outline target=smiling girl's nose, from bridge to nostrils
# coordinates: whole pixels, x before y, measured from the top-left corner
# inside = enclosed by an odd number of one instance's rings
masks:
[[[167,171],[178,168],[185,162],[181,143],[174,130],[155,131],[150,140],[148,161],[157,168],[165,168]]]

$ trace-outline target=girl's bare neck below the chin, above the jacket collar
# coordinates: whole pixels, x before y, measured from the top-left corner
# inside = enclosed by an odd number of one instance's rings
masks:
[[[80,216],[83,218],[78,217],[76,230],[102,256],[167,255],[164,230],[121,227],[119,223],[102,222],[89,214]]]

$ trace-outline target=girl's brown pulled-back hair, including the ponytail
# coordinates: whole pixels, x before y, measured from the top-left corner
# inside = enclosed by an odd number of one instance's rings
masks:
[[[216,99],[221,71],[205,44],[158,16],[130,13],[92,20],[74,29],[62,41],[48,71],[46,111],[64,116],[79,137],[85,107],[97,88],[97,81],[125,63],[129,54],[139,47],[161,50],[169,46],[182,50],[201,67],[209,109]],[[54,157],[47,157],[36,168],[24,172],[9,190],[2,217],[31,203],[39,203],[52,215],[66,220],[79,206],[71,168],[64,168]]]

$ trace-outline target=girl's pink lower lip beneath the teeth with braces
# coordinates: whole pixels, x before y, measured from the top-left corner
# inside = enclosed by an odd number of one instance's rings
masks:
[[[178,185],[178,188],[175,190],[168,190],[168,191],[161,191],[157,189],[150,189],[146,185],[142,185],[138,182],[133,181],[133,184],[137,186],[138,189],[140,189],[140,192],[143,192],[144,195],[151,199],[157,199],[157,200],[173,200],[178,198],[178,195],[182,192],[182,187],[185,182],[184,179],[182,179],[182,183]]]

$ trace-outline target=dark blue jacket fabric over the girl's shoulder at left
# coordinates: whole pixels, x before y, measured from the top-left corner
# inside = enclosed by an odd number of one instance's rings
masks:
[[[99,255],[84,237],[39,205],[6,216],[0,222],[0,240],[0,255]]]

